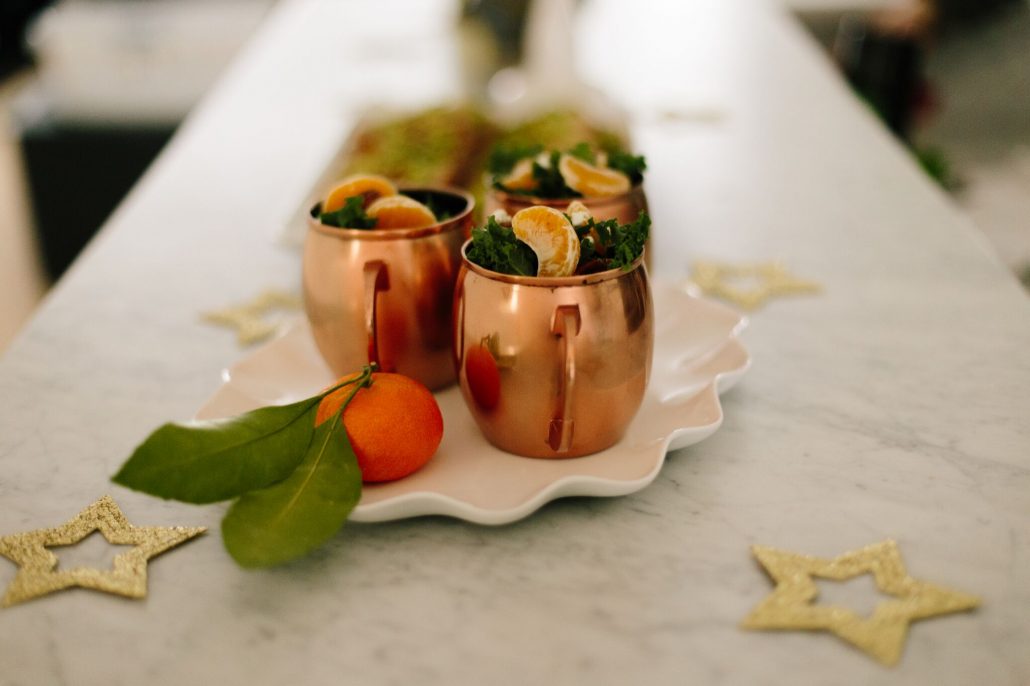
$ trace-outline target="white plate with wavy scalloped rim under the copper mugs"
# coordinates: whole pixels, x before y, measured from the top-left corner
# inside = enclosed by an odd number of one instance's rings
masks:
[[[366,484],[350,518],[449,515],[504,524],[557,498],[625,495],[651,483],[666,451],[697,443],[719,428],[719,392],[730,388],[751,364],[736,338],[746,324],[739,313],[670,283],[656,281],[652,290],[656,331],[651,384],[618,444],[571,459],[512,455],[486,442],[452,386],[436,393],[444,415],[436,456],[405,479]],[[304,321],[224,372],[224,378],[198,418],[290,403],[333,381]]]

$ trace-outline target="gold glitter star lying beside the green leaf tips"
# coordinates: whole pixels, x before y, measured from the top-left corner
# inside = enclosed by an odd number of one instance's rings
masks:
[[[77,567],[58,570],[58,558],[47,546],[69,546],[99,530],[111,545],[134,546],[114,558],[112,569]],[[186,526],[134,526],[110,495],[82,510],[70,521],[0,538],[0,555],[19,565],[0,607],[10,607],[72,586],[127,597],[146,595],[146,561],[206,530]]]

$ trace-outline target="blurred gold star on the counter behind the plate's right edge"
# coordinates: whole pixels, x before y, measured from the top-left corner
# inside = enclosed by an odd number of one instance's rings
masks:
[[[742,263],[730,265],[717,262],[695,262],[689,281],[701,291],[728,300],[746,310],[753,310],[778,296],[815,294],[822,290],[815,281],[805,281],[792,275],[779,262]],[[754,285],[746,288],[734,284],[734,279],[751,279]]]

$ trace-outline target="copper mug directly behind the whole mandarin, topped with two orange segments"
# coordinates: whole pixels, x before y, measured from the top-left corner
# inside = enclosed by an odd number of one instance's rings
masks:
[[[454,381],[451,307],[474,201],[450,188],[402,188],[451,216],[421,229],[337,229],[308,217],[304,309],[337,376],[377,363],[431,389]]]

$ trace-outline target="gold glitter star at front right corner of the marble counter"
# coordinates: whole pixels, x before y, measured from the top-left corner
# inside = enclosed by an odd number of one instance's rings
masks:
[[[974,595],[909,577],[897,544],[890,540],[834,559],[765,546],[752,546],[751,551],[777,587],[752,610],[744,628],[832,631],[888,665],[900,659],[909,622],[980,606]],[[847,608],[812,603],[819,595],[813,577],[844,581],[866,573],[877,588],[893,596],[881,601],[867,619]]]

